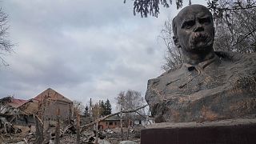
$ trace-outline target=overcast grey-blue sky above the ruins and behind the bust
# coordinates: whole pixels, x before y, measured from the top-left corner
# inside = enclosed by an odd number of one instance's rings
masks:
[[[84,104],[114,103],[121,90],[144,96],[147,80],[163,72],[158,35],[178,10],[161,7],[158,18],[141,18],[133,2],[2,0],[17,46],[5,57],[10,66],[0,67],[0,98],[34,98],[49,87]]]

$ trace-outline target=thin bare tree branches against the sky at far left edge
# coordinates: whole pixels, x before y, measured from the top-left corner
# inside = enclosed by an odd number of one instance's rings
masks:
[[[2,8],[0,8],[0,61],[4,66],[8,66],[4,56],[12,53],[14,47],[14,44],[7,39],[9,29],[9,26],[7,25],[7,18],[8,15],[3,12]]]

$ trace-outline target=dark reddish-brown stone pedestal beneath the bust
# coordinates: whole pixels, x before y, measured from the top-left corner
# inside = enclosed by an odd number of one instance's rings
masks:
[[[256,118],[214,122],[163,122],[141,131],[142,144],[255,144]]]

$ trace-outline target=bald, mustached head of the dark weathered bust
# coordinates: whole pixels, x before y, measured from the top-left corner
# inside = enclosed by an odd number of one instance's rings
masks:
[[[176,17],[178,42],[186,52],[206,52],[214,44],[214,24],[205,6],[184,8]]]

